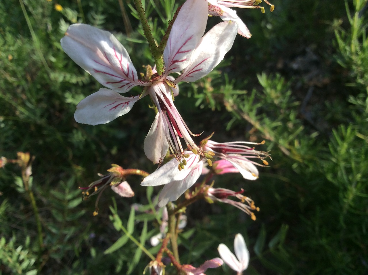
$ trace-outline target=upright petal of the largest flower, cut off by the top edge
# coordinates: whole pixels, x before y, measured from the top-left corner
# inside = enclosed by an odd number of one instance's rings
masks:
[[[187,0],[180,8],[163,52],[166,75],[187,67],[194,48],[205,32],[207,17],[207,0]]]

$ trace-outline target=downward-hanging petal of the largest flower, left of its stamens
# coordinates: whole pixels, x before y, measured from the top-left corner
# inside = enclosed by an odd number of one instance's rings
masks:
[[[144,152],[147,158],[153,163],[162,162],[167,150],[169,149],[169,143],[166,140],[164,122],[164,114],[158,112],[155,120],[153,120],[151,129],[144,140]]]

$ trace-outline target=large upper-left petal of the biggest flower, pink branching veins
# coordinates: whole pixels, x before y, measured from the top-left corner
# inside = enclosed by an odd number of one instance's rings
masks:
[[[113,34],[86,24],[70,25],[61,39],[64,52],[102,85],[124,93],[138,80],[127,50]]]

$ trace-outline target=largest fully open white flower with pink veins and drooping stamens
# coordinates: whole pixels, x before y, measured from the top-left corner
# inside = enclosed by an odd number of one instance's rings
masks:
[[[180,81],[196,81],[212,71],[230,50],[238,29],[234,22],[222,22],[203,36],[207,14],[206,0],[184,3],[163,50],[164,73],[158,75],[147,70],[143,80],[138,79],[127,50],[110,32],[85,24],[71,25],[61,39],[61,46],[71,59],[108,88],[101,88],[79,102],[75,120],[91,125],[108,123],[128,113],[138,99],[149,95],[158,112],[144,142],[145,154],[153,163],[160,163],[170,149],[181,162],[185,154],[180,138],[188,148],[198,147],[191,138],[194,134],[174,106],[172,88]],[[175,80],[169,76],[180,72]],[[144,87],[142,95],[119,94],[135,86]]]

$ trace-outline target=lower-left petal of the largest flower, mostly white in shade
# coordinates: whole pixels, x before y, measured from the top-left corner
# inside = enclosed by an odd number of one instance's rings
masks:
[[[78,123],[105,124],[130,111],[139,96],[127,98],[109,89],[101,88],[78,103],[74,113]]]

